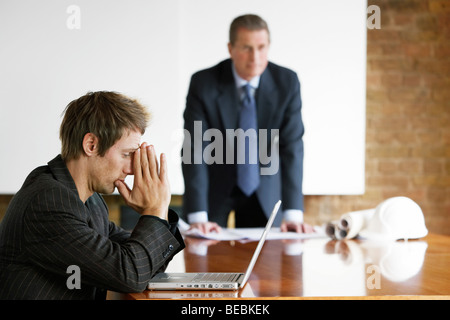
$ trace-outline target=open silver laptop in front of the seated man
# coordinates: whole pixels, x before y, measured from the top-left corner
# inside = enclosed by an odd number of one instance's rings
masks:
[[[264,245],[267,234],[272,227],[275,216],[280,208],[279,200],[272,210],[263,234],[258,242],[252,260],[245,273],[158,273],[148,284],[150,290],[238,290],[243,288],[255,266],[259,253]]]

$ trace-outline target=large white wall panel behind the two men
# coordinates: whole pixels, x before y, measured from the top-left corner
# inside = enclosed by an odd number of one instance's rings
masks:
[[[80,29],[67,27],[70,5],[80,8]],[[228,57],[229,24],[243,13],[268,22],[270,60],[299,75],[305,194],[363,193],[366,8],[359,0],[2,0],[0,193],[15,193],[59,153],[71,100],[114,90],[149,107],[143,141],[169,156],[172,192],[182,194],[190,76]]]

